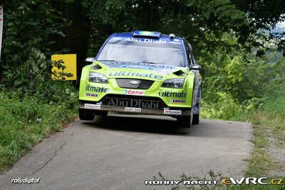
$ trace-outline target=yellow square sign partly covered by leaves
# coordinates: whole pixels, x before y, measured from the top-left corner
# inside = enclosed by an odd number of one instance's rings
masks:
[[[51,56],[54,80],[76,80],[76,54],[55,54]]]

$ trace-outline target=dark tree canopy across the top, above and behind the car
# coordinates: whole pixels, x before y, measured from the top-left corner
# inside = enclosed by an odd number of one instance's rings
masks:
[[[251,39],[251,32],[284,19],[284,4],[279,0],[272,4],[252,2],[254,9],[247,1],[229,0],[9,0],[2,4],[5,22],[1,70],[13,71],[24,65],[33,48],[48,58],[54,52],[76,52],[78,76],[87,53],[94,56],[113,32],[145,29],[175,33],[185,36],[197,56],[204,57],[215,54],[217,46],[229,46],[222,39],[224,34],[234,34],[244,42]],[[265,5],[274,11],[263,14]],[[254,43],[261,45],[251,41]],[[6,75],[2,74],[1,79]]]

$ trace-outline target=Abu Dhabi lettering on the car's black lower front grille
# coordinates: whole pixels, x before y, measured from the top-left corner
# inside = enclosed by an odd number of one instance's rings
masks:
[[[159,109],[159,101],[152,101],[152,100],[110,98],[108,99],[108,101],[105,102],[105,104],[108,106]]]

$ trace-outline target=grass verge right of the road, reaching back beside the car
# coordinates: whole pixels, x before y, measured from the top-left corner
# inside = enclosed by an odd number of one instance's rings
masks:
[[[246,176],[264,176],[270,172],[285,172],[285,166],[270,155],[271,149],[285,146],[285,94],[271,94],[269,99],[254,99],[239,105],[227,94],[219,94],[217,103],[202,105],[202,117],[248,121],[254,128],[254,149]]]

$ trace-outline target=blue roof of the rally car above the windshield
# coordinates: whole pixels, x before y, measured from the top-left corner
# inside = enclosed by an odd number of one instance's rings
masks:
[[[165,40],[165,41],[172,41],[173,39],[170,38],[170,35],[166,35],[166,34],[160,34],[160,37],[152,37],[152,36],[134,36],[135,32],[122,32],[122,33],[115,33],[112,34],[109,38],[113,38],[113,37],[123,37],[123,38],[142,38],[142,39],[160,39],[160,40]],[[147,31],[148,32],[148,31]],[[156,32],[156,33],[160,33],[160,32]],[[175,36],[175,41],[179,40],[180,42],[182,42],[182,38]]]

